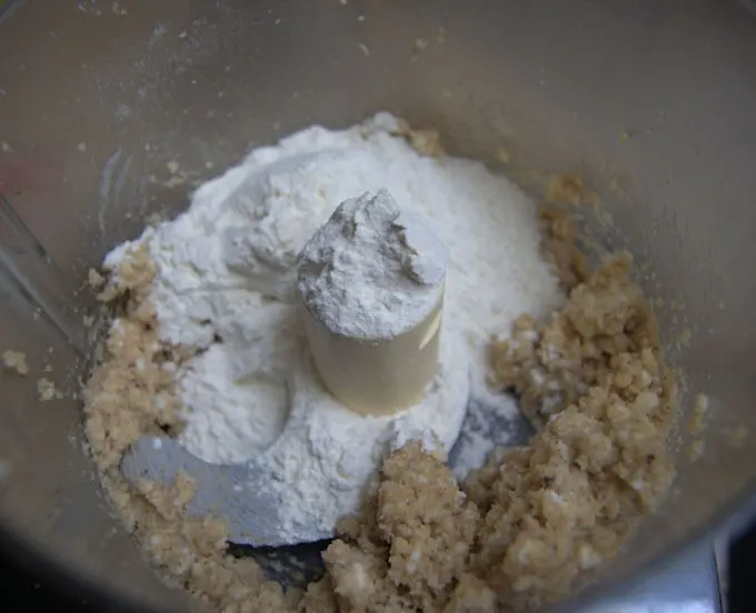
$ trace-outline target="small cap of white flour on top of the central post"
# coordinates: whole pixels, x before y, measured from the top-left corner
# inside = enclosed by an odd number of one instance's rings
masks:
[[[331,332],[391,339],[438,303],[446,245],[386,191],[347,200],[305,245],[299,291]]]

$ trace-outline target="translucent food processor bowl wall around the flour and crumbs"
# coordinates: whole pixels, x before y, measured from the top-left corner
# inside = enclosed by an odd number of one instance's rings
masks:
[[[737,2],[667,0],[28,0],[0,26],[4,160],[47,164],[46,184],[3,195],[47,250],[3,218],[0,351],[3,546],[130,597],[179,606],[119,532],[81,449],[77,389],[90,265],[152,212],[252,144],[376,110],[434,127],[455,154],[575,171],[648,264],[670,356],[710,399],[705,453],[587,597],[747,510],[756,476],[756,18]],[[12,2],[10,3],[13,4]],[[16,155],[17,158],[13,158]],[[178,168],[178,170],[177,170]],[[58,170],[59,169],[59,170]],[[18,221],[18,220],[17,220]],[[608,237],[609,234],[603,234]],[[603,239],[604,240],[604,239]],[[4,242],[3,242],[4,241]],[[609,239],[604,242],[609,247]],[[750,262],[750,264],[748,263]],[[37,313],[30,305],[42,303]],[[60,330],[68,333],[60,334]],[[678,336],[679,334],[683,336]],[[683,343],[685,344],[685,343]],[[674,349],[674,348],[673,348]],[[43,373],[46,363],[51,373]],[[684,434],[684,432],[683,432]],[[745,512],[745,511],[744,511]]]

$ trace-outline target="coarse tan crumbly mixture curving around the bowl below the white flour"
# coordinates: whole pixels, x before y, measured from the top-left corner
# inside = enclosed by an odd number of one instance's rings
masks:
[[[589,272],[571,220],[553,210],[543,220],[566,304],[548,321],[523,315],[490,346],[495,383],[519,394],[537,434],[494,453],[461,486],[417,443],[390,455],[304,593],[227,555],[220,522],[183,516],[188,476],[170,489],[121,478],[133,441],[181,428],[173,373],[186,359],[158,339],[155,267],[132,251],[100,294],[118,312],[86,390],[86,429],[116,508],[160,574],[226,613],[474,613],[536,610],[611,559],[669,488],[676,385],[629,258]]]

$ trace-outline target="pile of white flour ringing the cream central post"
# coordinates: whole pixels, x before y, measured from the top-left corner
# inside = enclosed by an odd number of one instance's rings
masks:
[[[483,164],[420,155],[380,113],[344,131],[312,127],[197,190],[189,210],[135,244],[158,267],[151,300],[161,339],[195,355],[177,372],[181,443],[212,463],[253,462],[270,474],[284,531],[322,530],[354,512],[386,451],[412,438],[454,443],[469,395],[486,388],[486,346],[520,313],[561,301],[539,254],[536,211]],[[312,375],[296,315],[297,258],[342,201],[387,189],[448,247],[441,368],[420,406],[365,418]]]

